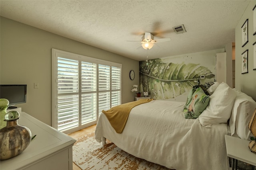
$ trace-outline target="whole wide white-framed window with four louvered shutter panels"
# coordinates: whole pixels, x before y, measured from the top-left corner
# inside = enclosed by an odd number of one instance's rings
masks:
[[[121,104],[122,64],[52,49],[52,125],[71,133]]]

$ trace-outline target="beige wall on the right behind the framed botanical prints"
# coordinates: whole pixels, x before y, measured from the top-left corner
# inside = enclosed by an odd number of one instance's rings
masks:
[[[256,2],[251,1],[236,26],[236,89],[252,96],[256,100],[256,70],[253,70],[253,46],[256,35],[253,35],[253,7]],[[256,9],[255,9],[256,10]],[[242,30],[244,21],[248,19],[248,43],[242,47]],[[248,49],[248,73],[242,74],[242,53]]]

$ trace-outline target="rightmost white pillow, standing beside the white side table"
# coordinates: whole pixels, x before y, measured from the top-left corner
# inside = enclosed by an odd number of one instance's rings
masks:
[[[236,100],[234,101],[229,121],[231,135],[237,133],[241,139],[249,140],[252,133],[248,128],[248,123],[256,108],[256,102],[245,93],[234,90],[236,92]]]

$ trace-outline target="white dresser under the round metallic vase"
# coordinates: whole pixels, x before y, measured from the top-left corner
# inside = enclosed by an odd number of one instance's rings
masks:
[[[20,113],[19,125],[28,127],[36,137],[18,156],[1,160],[1,170],[72,170],[72,146],[75,139],[35,119]]]

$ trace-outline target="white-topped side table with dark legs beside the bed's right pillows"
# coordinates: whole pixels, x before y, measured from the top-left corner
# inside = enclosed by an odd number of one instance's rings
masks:
[[[225,135],[227,154],[232,158],[232,170],[237,170],[237,160],[256,166],[256,153],[249,149],[250,141]]]

